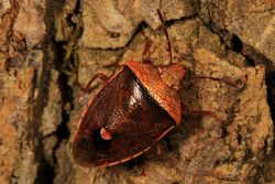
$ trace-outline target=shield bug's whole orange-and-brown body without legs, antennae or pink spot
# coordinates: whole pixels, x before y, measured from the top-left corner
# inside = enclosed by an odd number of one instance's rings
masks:
[[[81,115],[73,145],[77,163],[114,165],[156,143],[180,122],[178,90],[184,73],[180,64],[123,64]],[[102,128],[110,140],[101,138]]]

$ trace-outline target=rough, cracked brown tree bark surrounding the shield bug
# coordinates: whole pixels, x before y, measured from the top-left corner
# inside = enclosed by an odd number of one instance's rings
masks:
[[[188,72],[182,101],[189,110],[169,133],[170,147],[161,141],[162,156],[152,148],[112,167],[80,167],[72,141],[101,83],[84,94],[74,82],[142,61],[143,34],[153,43],[150,58],[168,64],[156,9],[173,62]],[[274,0],[2,0],[0,183],[275,182],[274,13]]]

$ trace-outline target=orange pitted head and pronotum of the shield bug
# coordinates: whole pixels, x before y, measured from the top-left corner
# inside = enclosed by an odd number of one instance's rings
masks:
[[[138,62],[127,62],[124,65],[134,73],[148,94],[176,123],[180,123],[179,89],[185,74],[184,67],[179,63],[157,67]]]

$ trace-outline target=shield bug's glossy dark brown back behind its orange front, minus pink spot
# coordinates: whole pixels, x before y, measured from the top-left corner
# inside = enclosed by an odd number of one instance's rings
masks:
[[[123,162],[146,150],[175,125],[124,67],[84,115],[74,142],[74,158],[82,166]],[[100,138],[102,127],[112,134],[111,140]]]

